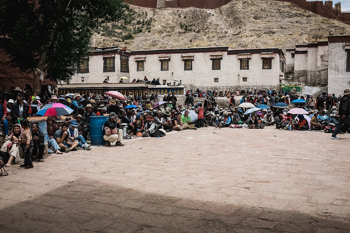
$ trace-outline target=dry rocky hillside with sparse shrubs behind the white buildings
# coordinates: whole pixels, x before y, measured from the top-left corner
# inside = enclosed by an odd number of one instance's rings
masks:
[[[128,20],[105,24],[95,46],[126,46],[129,50],[229,46],[229,48],[293,48],[316,42],[309,30],[330,33],[350,26],[303,10],[290,2],[238,1],[217,9],[132,6]],[[318,41],[327,40],[326,36]]]

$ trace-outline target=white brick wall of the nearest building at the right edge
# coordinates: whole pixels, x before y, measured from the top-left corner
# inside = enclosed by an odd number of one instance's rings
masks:
[[[350,88],[350,72],[346,72],[345,43],[328,45],[328,93],[339,96]]]

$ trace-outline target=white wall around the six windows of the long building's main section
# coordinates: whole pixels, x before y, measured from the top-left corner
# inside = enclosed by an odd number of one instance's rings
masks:
[[[153,78],[173,82],[172,79],[182,80],[182,85],[186,87],[210,88],[210,87],[260,87],[260,86],[278,86],[280,72],[279,54],[274,53],[272,59],[272,69],[262,69],[262,59],[260,53],[252,54],[249,60],[249,70],[240,70],[240,60],[237,55],[222,52],[221,70],[212,70],[212,60],[210,54],[217,52],[200,52],[194,54],[192,71],[184,71],[184,61],[181,53],[171,54],[147,54],[131,55],[130,57],[130,79],[143,79],[146,75],[149,80]],[[183,54],[184,55],[184,54]],[[137,71],[135,57],[145,56],[145,71]],[[161,71],[159,56],[170,56],[169,71]],[[283,74],[283,73],[282,73]],[[243,82],[243,77],[247,82]],[[219,82],[214,82],[218,78]]]

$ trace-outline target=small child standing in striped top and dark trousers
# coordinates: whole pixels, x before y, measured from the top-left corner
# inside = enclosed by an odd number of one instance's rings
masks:
[[[23,132],[21,136],[20,147],[23,149],[24,164],[20,167],[24,167],[25,169],[33,168],[33,162],[30,158],[31,151],[33,151],[33,142],[31,141],[31,132],[29,129],[28,119],[22,119],[21,126],[23,128]]]

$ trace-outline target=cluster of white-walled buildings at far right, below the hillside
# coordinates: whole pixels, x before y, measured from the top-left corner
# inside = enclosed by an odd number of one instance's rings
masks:
[[[350,35],[328,36],[328,41],[295,45],[286,50],[286,77],[306,86],[327,86],[339,95],[350,87]]]

